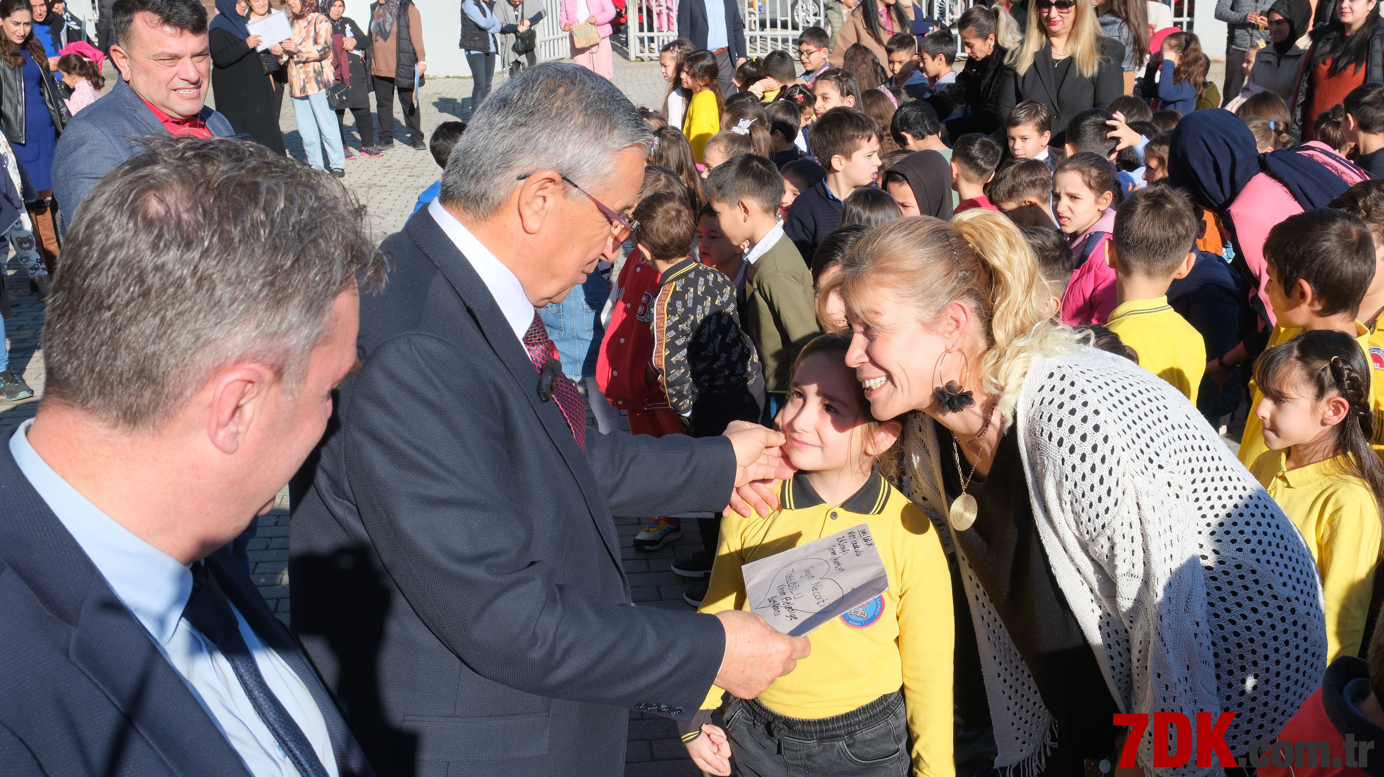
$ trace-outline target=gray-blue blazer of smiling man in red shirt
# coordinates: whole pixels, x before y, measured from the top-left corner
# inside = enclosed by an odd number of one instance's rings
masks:
[[[235,134],[231,123],[210,108],[202,106],[201,119],[213,135]],[[149,106],[116,73],[111,93],[82,109],[68,122],[53,152],[53,199],[58,200],[61,232],[76,216],[87,192],[102,176],[134,156],[134,138],[167,134]]]

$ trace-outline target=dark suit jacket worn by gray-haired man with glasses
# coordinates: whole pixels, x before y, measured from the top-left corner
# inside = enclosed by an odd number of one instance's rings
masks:
[[[583,453],[428,210],[383,249],[293,489],[293,630],[381,774],[617,777],[628,711],[691,718],[725,636],[630,604],[612,512],[720,510],[729,441],[590,429]]]

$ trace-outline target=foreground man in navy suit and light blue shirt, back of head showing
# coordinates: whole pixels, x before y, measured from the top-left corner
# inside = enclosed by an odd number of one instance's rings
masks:
[[[374,774],[228,545],[356,362],[383,259],[354,199],[257,145],[165,138],[62,261],[47,395],[0,444],[0,774]]]

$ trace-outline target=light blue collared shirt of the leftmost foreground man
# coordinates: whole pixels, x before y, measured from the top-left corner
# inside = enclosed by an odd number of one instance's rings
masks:
[[[215,643],[183,619],[183,608],[192,593],[192,572],[118,524],[53,471],[29,445],[32,424],[33,419],[24,422],[10,438],[10,453],[24,477],[91,559],[115,596],[144,625],[154,646],[177,669],[198,704],[245,762],[245,769],[255,777],[299,777],[288,753],[255,712],[230,661]],[[264,683],[303,730],[327,773],[336,777],[331,736],[311,691],[277,653],[260,642],[234,604],[231,610]]]

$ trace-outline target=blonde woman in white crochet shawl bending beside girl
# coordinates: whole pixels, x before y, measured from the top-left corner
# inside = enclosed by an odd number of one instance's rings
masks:
[[[1185,397],[1038,289],[1019,228],[976,209],[876,227],[819,294],[844,303],[873,416],[904,418],[909,498],[955,560],[958,708],[988,702],[1016,774],[1113,763],[1117,712],[1235,712],[1246,753],[1320,684],[1312,554]],[[1151,740],[1140,765],[1174,774]]]

